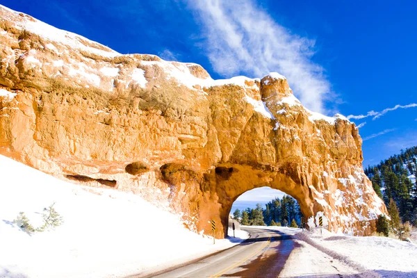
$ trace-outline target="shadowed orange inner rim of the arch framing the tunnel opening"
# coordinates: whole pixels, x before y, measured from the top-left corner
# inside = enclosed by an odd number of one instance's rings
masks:
[[[205,177],[202,186],[203,197],[200,198],[198,206],[199,227],[197,228],[204,232],[211,231],[210,222],[214,220],[218,223],[215,236],[218,238],[226,236],[234,202],[238,197],[255,188],[265,187],[277,190],[278,195],[285,193],[292,196],[300,206],[300,213],[306,218],[315,215],[316,211],[324,210],[320,203],[315,202],[311,190],[308,186],[303,186],[300,179],[295,181],[288,174],[254,169],[248,165],[222,165]]]

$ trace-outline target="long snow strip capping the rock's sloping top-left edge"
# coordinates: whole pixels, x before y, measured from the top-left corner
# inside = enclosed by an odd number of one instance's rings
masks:
[[[122,55],[112,49],[102,46],[97,42],[88,40],[88,38],[84,38],[81,35],[58,29],[29,15],[24,15],[24,13],[19,13],[2,5],[0,5],[0,8],[4,13],[6,13],[6,16],[7,13],[13,16],[13,18],[10,18],[10,21],[15,22],[15,27],[20,30],[26,30],[31,33],[35,33],[36,35],[39,35],[40,37],[47,40],[60,42],[71,48],[80,49],[92,54],[97,54],[99,56],[113,58],[115,56]]]

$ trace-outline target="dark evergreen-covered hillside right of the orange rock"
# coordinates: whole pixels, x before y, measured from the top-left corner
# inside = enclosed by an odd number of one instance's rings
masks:
[[[375,192],[388,206],[392,198],[400,209],[403,222],[417,224],[417,146],[365,168]]]

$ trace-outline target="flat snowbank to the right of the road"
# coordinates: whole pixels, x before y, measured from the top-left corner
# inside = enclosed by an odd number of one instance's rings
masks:
[[[347,236],[323,229],[295,235],[361,271],[365,277],[417,277],[417,245],[379,236]]]

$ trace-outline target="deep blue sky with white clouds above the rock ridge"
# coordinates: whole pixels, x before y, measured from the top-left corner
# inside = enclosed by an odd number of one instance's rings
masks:
[[[363,165],[417,145],[416,1],[0,3],[122,54],[199,63],[215,79],[279,72],[313,111],[368,115],[351,117],[363,124]]]

